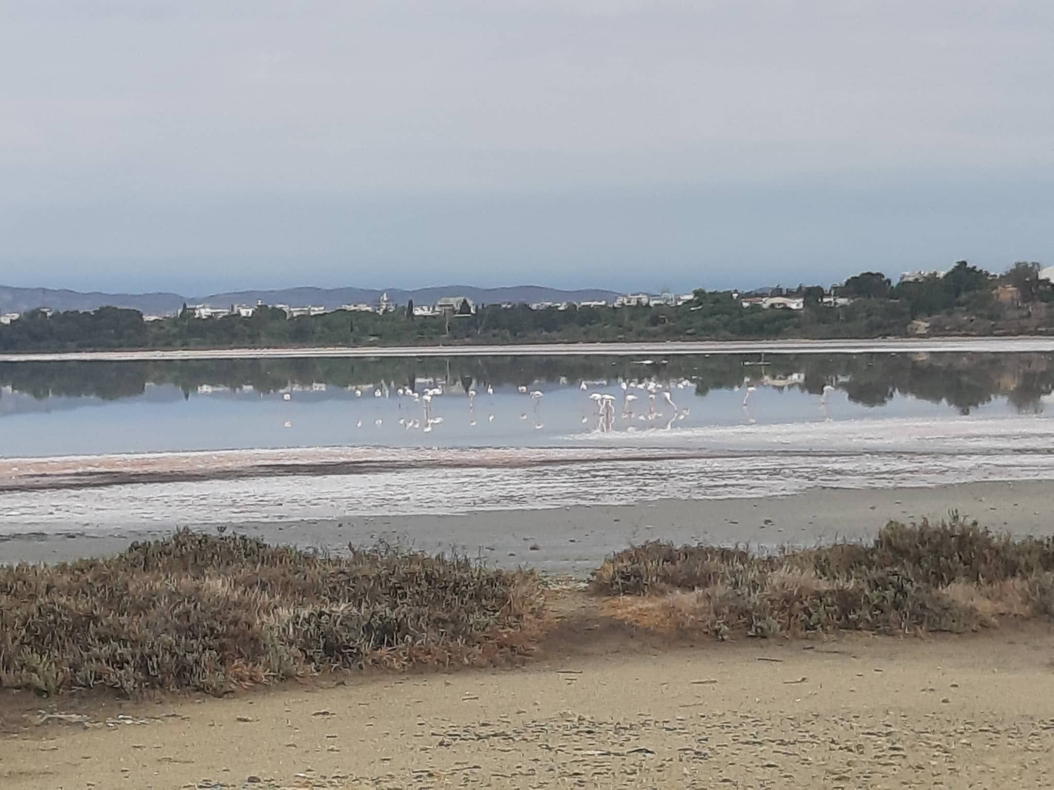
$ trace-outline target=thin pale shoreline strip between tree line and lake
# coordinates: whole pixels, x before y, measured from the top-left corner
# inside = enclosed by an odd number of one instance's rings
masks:
[[[261,349],[149,349],[0,354],[0,362],[165,361],[291,357],[636,356],[642,354],[898,354],[1054,352],[1054,337],[949,337],[832,340],[695,340],[669,342],[354,345]]]

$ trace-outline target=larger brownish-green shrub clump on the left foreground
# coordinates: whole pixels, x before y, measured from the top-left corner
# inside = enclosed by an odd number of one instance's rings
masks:
[[[379,547],[323,556],[179,531],[108,559],[0,568],[0,687],[223,693],[328,669],[529,649],[533,572]]]

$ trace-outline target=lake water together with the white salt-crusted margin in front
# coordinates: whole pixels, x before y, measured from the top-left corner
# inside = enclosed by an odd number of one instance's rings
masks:
[[[0,364],[0,534],[1054,479],[1051,354]]]

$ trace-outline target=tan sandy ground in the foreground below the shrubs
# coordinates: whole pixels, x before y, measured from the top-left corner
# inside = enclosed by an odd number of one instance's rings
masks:
[[[665,649],[586,628],[520,669],[80,705],[142,724],[38,726],[17,696],[0,786],[1054,786],[1049,627]]]

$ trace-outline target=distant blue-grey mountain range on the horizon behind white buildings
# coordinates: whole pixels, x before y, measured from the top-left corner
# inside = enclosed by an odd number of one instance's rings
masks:
[[[275,291],[232,291],[208,296],[182,296],[180,294],[104,294],[81,293],[48,288],[9,288],[0,285],[0,313],[24,313],[36,308],[52,310],[96,310],[102,307],[131,308],[147,315],[175,313],[186,304],[207,304],[212,308],[229,308],[232,304],[309,304],[336,310],[341,304],[356,302],[376,303],[383,290],[363,288],[289,288]],[[543,285],[510,285],[507,288],[474,288],[472,285],[442,285],[418,288],[413,291],[388,289],[388,298],[396,304],[405,304],[413,299],[416,304],[431,304],[443,296],[467,296],[476,304],[493,302],[534,301],[589,301],[606,299],[611,301],[618,294],[603,289],[563,291]]]

